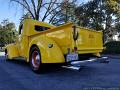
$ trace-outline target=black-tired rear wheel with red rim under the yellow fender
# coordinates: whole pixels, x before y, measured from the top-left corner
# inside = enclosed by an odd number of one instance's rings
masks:
[[[41,69],[41,55],[39,48],[33,47],[30,50],[30,66],[35,73],[39,73]]]

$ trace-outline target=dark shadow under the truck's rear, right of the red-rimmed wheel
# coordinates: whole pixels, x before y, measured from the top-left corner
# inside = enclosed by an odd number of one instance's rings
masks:
[[[43,68],[43,73],[42,74],[49,74],[49,75],[56,75],[58,74],[58,76],[69,76],[71,75],[90,75],[93,74],[94,72],[96,72],[96,68],[95,67],[90,67],[90,66],[82,66],[79,70],[75,70],[75,69],[70,69],[70,68],[64,68],[62,66],[57,66],[57,65],[49,65],[49,66],[45,66]],[[76,76],[76,75],[75,75]]]

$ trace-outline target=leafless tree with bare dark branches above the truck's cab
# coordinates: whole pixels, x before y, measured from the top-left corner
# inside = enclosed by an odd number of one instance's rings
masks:
[[[58,0],[10,0],[10,2],[18,3],[25,9],[25,14],[29,13],[32,19],[40,21],[50,19],[51,13],[60,6]]]

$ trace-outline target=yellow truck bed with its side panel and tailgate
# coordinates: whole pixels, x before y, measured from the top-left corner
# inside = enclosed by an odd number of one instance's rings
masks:
[[[73,39],[73,23],[68,23],[46,31],[46,36],[52,38],[64,54],[77,47],[79,54],[99,53],[103,50],[102,32],[76,26],[78,38]]]

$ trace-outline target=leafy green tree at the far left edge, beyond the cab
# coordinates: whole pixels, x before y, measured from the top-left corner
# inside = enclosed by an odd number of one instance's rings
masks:
[[[15,41],[15,24],[5,19],[0,24],[0,46],[3,47],[5,44],[13,43]]]

